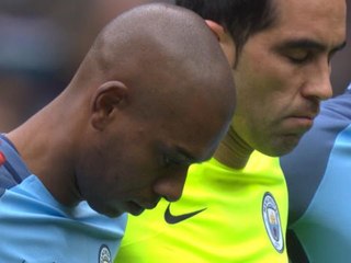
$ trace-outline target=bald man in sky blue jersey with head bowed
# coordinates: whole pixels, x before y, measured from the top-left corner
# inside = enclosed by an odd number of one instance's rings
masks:
[[[189,165],[227,132],[234,102],[229,66],[202,19],[167,4],[117,16],[64,92],[1,135],[1,261],[112,262],[125,213],[180,197]]]

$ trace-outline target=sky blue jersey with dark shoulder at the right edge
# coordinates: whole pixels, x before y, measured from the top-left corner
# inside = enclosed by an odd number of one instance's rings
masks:
[[[322,103],[313,128],[281,158],[290,193],[293,262],[350,262],[351,84]]]

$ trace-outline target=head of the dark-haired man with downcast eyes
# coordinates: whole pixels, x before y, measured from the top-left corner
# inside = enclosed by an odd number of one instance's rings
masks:
[[[346,0],[177,0],[205,20],[233,66],[228,136],[271,156],[291,151],[332,94],[330,58],[346,42]]]

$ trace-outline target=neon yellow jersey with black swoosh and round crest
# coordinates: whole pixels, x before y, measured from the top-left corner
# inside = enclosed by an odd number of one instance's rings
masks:
[[[278,158],[241,170],[215,159],[190,168],[176,203],[129,216],[115,263],[288,262],[287,190]]]

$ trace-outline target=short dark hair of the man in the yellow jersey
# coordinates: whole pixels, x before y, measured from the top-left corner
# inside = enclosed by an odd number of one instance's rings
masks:
[[[231,35],[240,54],[247,39],[275,22],[273,0],[176,0],[205,20],[212,20]]]

